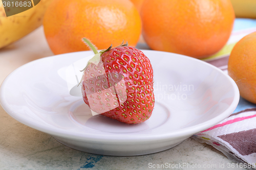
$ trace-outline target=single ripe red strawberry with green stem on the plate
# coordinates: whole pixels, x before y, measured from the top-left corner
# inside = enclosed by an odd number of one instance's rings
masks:
[[[126,124],[142,123],[152,114],[153,68],[138,49],[126,44],[97,52],[84,68],[81,80],[84,102],[97,114]]]

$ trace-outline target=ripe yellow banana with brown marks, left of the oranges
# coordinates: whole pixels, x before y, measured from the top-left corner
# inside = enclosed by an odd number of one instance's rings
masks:
[[[53,0],[41,0],[33,8],[22,13],[6,17],[2,0],[0,0],[0,48],[31,33],[42,25],[42,19]]]

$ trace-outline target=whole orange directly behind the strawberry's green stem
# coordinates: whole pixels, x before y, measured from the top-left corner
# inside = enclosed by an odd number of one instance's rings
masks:
[[[83,37],[99,49],[118,46],[123,40],[135,46],[141,34],[140,15],[129,0],[55,0],[43,25],[54,54],[90,50]]]

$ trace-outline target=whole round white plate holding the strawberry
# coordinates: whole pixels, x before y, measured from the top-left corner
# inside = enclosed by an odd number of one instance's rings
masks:
[[[182,55],[143,52],[153,65],[156,104],[152,117],[139,125],[92,116],[80,96],[70,95],[67,67],[92,52],[42,58],[17,68],[1,86],[1,105],[19,122],[71,148],[115,156],[172,148],[236,109],[238,87],[220,69]]]

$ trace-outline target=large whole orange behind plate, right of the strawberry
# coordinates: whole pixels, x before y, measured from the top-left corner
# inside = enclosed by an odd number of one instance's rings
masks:
[[[140,14],[148,46],[195,58],[220,51],[234,22],[229,0],[145,0]]]

